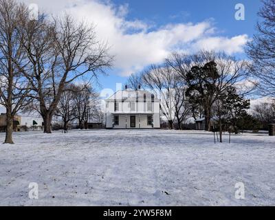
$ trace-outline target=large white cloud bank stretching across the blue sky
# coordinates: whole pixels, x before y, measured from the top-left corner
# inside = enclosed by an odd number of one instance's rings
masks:
[[[114,5],[99,0],[24,0],[37,3],[47,12],[71,12],[77,19],[96,25],[98,37],[108,41],[115,55],[115,68],[122,76],[140,71],[146,65],[161,62],[172,50],[194,52],[201,49],[223,50],[228,54],[243,52],[247,35],[232,38],[215,36],[211,21],[167,24],[151,27],[144,21],[126,19],[128,5]]]

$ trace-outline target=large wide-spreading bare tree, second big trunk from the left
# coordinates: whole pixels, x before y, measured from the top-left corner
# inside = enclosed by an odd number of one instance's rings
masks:
[[[44,132],[51,133],[51,122],[63,89],[76,79],[97,78],[111,67],[113,58],[106,44],[96,41],[93,25],[78,23],[69,15],[50,23],[41,15],[28,23],[25,50],[32,63],[32,104],[44,121]]]

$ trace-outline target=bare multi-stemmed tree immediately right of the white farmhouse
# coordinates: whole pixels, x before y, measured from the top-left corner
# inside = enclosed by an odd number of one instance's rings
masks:
[[[175,120],[181,129],[181,124],[190,118],[191,108],[185,96],[186,79],[171,66],[170,61],[168,58],[161,65],[151,65],[142,74],[142,85],[162,100],[161,110],[170,129],[173,129]]]

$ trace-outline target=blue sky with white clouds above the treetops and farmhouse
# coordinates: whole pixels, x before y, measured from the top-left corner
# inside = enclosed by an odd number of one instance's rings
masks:
[[[160,63],[173,51],[221,50],[245,58],[261,0],[18,0],[39,10],[94,23],[99,41],[108,42],[115,56],[102,89],[115,91],[129,75]],[[245,5],[245,21],[236,21],[235,5]]]

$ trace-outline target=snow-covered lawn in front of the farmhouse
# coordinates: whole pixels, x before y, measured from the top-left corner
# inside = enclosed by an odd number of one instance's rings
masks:
[[[213,139],[202,131],[17,133],[17,144],[0,144],[0,205],[274,206],[275,137]],[[31,182],[39,199],[28,197]],[[235,198],[238,182],[244,200]]]

